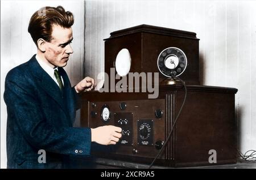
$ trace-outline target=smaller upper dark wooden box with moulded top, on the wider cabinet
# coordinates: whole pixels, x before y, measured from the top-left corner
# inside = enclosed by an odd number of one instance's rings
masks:
[[[187,57],[187,68],[179,77],[187,84],[199,85],[199,39],[196,33],[145,24],[110,33],[105,39],[105,72],[110,76],[110,68],[115,68],[115,59],[121,49],[129,50],[129,72],[159,72],[158,56],[170,47],[181,49]],[[159,72],[159,82],[166,78]]]

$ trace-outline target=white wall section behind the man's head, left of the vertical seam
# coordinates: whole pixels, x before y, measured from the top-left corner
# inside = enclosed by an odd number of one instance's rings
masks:
[[[44,6],[59,5],[75,16],[71,44],[74,53],[65,67],[72,85],[75,85],[83,77],[84,70],[84,1],[1,1],[1,168],[6,168],[7,162],[7,112],[3,101],[6,74],[36,54],[36,46],[27,32],[32,14]]]

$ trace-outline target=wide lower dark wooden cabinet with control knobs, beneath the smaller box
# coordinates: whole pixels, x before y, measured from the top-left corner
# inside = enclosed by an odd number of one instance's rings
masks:
[[[155,165],[180,167],[236,163],[236,92],[235,88],[187,85],[187,100]],[[93,155],[112,161],[151,163],[159,152],[158,143],[165,142],[170,133],[184,99],[184,88],[167,85],[159,87],[158,98],[148,99],[147,95],[97,91],[80,94],[81,126],[115,125],[126,131],[117,145],[93,145]],[[122,109],[121,104],[126,108]],[[108,122],[101,118],[104,105],[110,110]],[[157,110],[162,111],[162,116]],[[216,164],[208,161],[211,149],[216,152]]]

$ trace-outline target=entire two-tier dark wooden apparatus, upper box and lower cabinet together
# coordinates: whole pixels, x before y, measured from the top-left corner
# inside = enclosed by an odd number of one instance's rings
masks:
[[[155,165],[179,167],[237,162],[234,114],[237,89],[200,85],[199,39],[196,33],[144,24],[112,32],[105,39],[105,72],[111,77],[111,68],[114,68],[114,77],[117,75],[115,59],[122,49],[126,49],[129,52],[125,58],[128,63],[121,59],[121,65],[130,65],[129,72],[158,73],[159,66],[163,65],[157,63],[158,58],[160,54],[164,56],[164,65],[167,65],[168,50],[166,55],[163,51],[170,47],[182,50],[187,58],[187,68],[179,76],[187,84],[187,100],[175,126],[185,94],[181,83],[160,83],[159,96],[152,99],[148,98],[149,92],[134,91],[135,88],[142,90],[141,84],[139,87],[129,84],[127,89],[131,92],[118,93],[110,85],[106,88],[110,91],[80,94],[81,126],[115,125],[123,130],[117,145],[92,145],[93,155],[105,159],[101,164],[117,160],[127,165],[132,162],[134,166],[150,164],[164,142],[167,144]],[[180,65],[183,63],[184,57],[179,52],[170,50],[170,54],[179,59]],[[162,60],[159,58],[160,63]],[[167,67],[167,70],[171,72],[173,69]],[[127,79],[129,82],[129,77]],[[166,76],[159,72],[159,82],[165,79]],[[117,79],[114,82],[115,88]],[[105,78],[104,88],[108,83]],[[170,139],[167,139],[173,126]],[[216,164],[209,162],[213,156]]]

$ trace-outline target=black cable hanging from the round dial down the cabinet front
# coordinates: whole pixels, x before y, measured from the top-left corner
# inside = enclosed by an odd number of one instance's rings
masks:
[[[181,110],[183,109],[183,106],[184,106],[184,104],[185,104],[185,100],[186,100],[186,98],[187,98],[187,87],[186,87],[186,85],[185,85],[185,82],[184,82],[183,80],[181,80],[179,77],[174,76],[173,78],[179,79],[180,82],[183,84],[183,86],[184,86],[184,88],[185,88],[184,100],[183,100],[183,103],[182,103],[182,105],[181,105],[181,107],[180,107],[180,111],[179,111],[179,113],[177,114],[177,116],[176,116],[176,118],[175,118],[174,125],[172,125],[171,131],[170,131],[169,135],[168,135],[167,138],[166,138],[166,142],[164,142],[162,148],[160,149],[160,151],[158,152],[158,154],[155,156],[155,158],[154,158],[154,160],[151,162],[150,166],[148,166],[148,169],[150,169],[150,168],[152,167],[152,165],[154,164],[156,158],[158,158],[158,156],[162,153],[164,147],[165,147],[166,144],[168,143],[168,141],[169,141],[169,139],[170,139],[170,137],[171,137],[171,134],[172,134],[172,132],[173,132],[173,130],[174,130],[174,127],[175,127],[175,125],[176,125],[177,118],[179,118],[180,112],[181,112]]]

